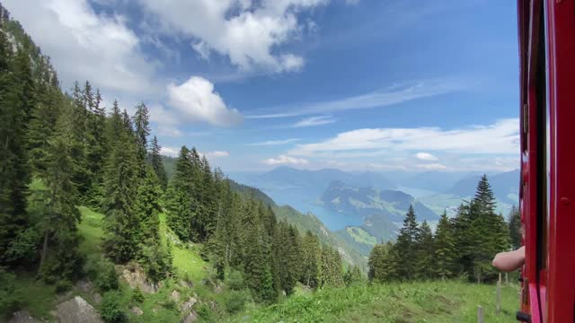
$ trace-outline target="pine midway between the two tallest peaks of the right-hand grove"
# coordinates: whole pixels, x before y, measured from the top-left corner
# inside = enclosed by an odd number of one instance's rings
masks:
[[[456,274],[456,241],[447,213],[441,215],[435,233],[435,275],[441,279],[453,277]]]

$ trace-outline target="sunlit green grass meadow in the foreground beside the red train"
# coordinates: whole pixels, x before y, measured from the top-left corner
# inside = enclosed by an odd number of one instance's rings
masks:
[[[495,286],[459,282],[358,284],[294,295],[267,308],[252,309],[229,322],[477,322],[481,305],[486,322],[512,322],[517,285],[501,291],[495,313]]]

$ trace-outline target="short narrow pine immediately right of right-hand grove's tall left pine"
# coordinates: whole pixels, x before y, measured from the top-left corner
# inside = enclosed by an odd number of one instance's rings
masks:
[[[431,228],[427,221],[421,223],[415,240],[415,278],[433,278],[433,268],[437,266],[435,256],[435,245]]]

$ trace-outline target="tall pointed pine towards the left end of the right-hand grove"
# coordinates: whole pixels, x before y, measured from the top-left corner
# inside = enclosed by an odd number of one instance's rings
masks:
[[[403,227],[400,229],[395,248],[399,251],[400,258],[396,265],[397,274],[401,279],[410,280],[415,274],[416,239],[418,235],[418,224],[413,205],[405,215]]]

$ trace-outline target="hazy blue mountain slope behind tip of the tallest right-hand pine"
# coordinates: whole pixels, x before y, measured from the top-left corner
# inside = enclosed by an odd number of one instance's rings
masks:
[[[468,177],[457,181],[447,194],[455,196],[473,196],[481,175]],[[517,204],[519,194],[519,170],[511,170],[500,174],[488,176],[493,194],[503,203]]]

